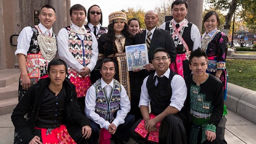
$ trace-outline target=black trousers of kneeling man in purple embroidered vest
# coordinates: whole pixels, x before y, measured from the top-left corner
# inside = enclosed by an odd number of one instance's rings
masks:
[[[99,139],[99,131],[100,131],[100,125],[96,122],[90,120],[91,122],[91,128],[92,128],[92,135],[89,138],[88,144],[97,144]],[[114,136],[124,142],[128,142],[130,135],[130,128],[134,124],[134,116],[131,114],[127,114],[127,116],[124,119],[124,124],[120,124]]]

